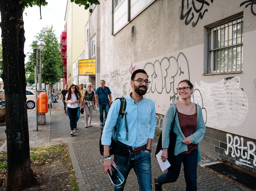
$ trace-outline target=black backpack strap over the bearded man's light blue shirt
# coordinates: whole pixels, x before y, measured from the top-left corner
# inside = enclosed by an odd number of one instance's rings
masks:
[[[114,141],[116,142],[117,140],[117,137],[119,135],[119,131],[120,131],[120,123],[121,123],[121,119],[123,118],[124,116],[124,121],[125,121],[125,129],[126,129],[126,141],[129,140],[128,138],[128,124],[127,124],[127,118],[126,118],[126,115],[127,115],[127,112],[125,111],[125,108],[126,108],[126,100],[124,97],[122,98],[116,98],[116,99],[119,99],[121,104],[120,104],[120,109],[119,109],[119,113],[118,113],[118,125],[117,125],[117,128],[116,128],[116,134],[115,134],[115,139]],[[116,100],[115,99],[115,100]]]

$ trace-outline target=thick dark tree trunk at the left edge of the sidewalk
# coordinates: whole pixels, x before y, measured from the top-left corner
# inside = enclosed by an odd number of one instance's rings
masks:
[[[38,183],[30,168],[22,4],[1,0],[0,11],[8,163],[5,186],[6,191],[18,191]]]

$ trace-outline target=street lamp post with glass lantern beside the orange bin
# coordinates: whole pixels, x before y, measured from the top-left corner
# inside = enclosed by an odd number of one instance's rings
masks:
[[[37,43],[37,46],[42,50],[45,46],[45,43],[43,39],[40,39]],[[39,65],[39,75],[38,75],[38,82],[39,82],[39,90],[41,90],[41,55],[40,50],[37,51],[37,49],[34,49],[33,55],[34,55],[34,65],[35,65],[35,110],[36,110],[36,131],[38,131],[38,115],[37,115],[37,66]],[[37,61],[37,53],[38,53],[38,61]],[[38,63],[38,64],[37,64]]]

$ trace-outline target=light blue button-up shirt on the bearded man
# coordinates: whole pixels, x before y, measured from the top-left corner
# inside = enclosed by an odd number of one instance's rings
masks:
[[[136,148],[145,145],[148,138],[154,138],[156,128],[156,109],[153,100],[147,99],[151,107],[150,113],[149,105],[144,97],[139,102],[139,104],[137,104],[136,101],[134,101],[130,95],[125,97],[125,111],[127,112],[126,117],[129,131],[129,141],[126,141],[126,128],[124,117],[121,119],[120,131],[117,140],[129,146],[132,146],[133,148]],[[115,125],[117,126],[120,104],[120,100],[114,101],[108,111],[107,120],[105,122],[105,126],[101,137],[102,145],[110,145],[111,143],[113,127]]]

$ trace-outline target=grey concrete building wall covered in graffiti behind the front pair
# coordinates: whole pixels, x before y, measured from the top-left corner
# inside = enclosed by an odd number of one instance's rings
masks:
[[[207,126],[202,150],[255,172],[256,6],[246,8],[244,0],[193,2],[157,0],[112,36],[112,2],[101,1],[100,78],[114,100],[131,92],[132,72],[145,69],[151,81],[146,97],[155,101],[160,130],[169,105],[180,100],[179,81],[190,79]],[[244,19],[242,72],[206,74],[208,28],[237,15]]]

